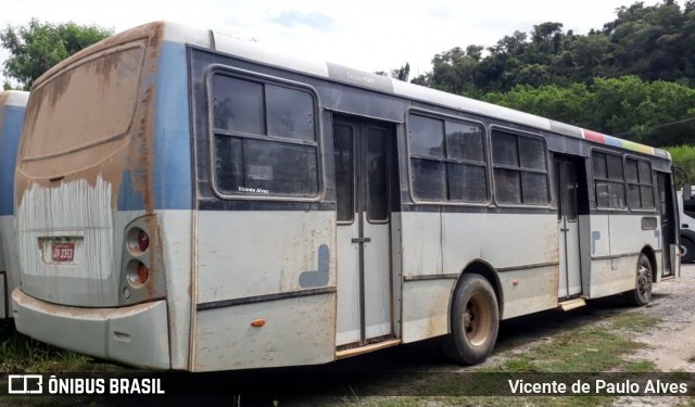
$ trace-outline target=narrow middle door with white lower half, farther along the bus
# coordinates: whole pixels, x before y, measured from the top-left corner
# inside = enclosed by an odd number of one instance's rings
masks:
[[[578,179],[574,162],[555,158],[557,196],[559,279],[558,298],[567,298],[582,292],[579,256]]]

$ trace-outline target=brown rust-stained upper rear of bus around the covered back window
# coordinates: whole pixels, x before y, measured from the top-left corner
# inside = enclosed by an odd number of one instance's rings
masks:
[[[62,182],[85,179],[93,186],[97,178],[101,177],[112,186],[112,207],[115,209],[123,174],[129,171],[134,189],[142,193],[147,213],[152,213],[154,199],[151,193],[153,162],[151,147],[154,142],[152,133],[154,80],[151,77],[156,73],[163,28],[163,23],[152,23],[110,37],[71,56],[37,80],[31,97],[33,103],[29,103],[26,113],[25,133],[29,136],[26,137],[27,140],[23,140],[20,148],[18,173],[21,175],[16,179],[17,203],[22,202],[25,191],[31,188],[31,183],[52,188]],[[114,48],[116,50],[111,51]],[[134,62],[138,53],[140,62],[136,66]],[[97,93],[99,90],[84,86],[87,84],[83,84],[84,78],[76,77],[76,73],[87,75],[87,82],[98,84],[102,91],[110,90],[111,97],[116,99],[102,98],[104,102],[109,102],[106,105],[90,104],[89,101],[99,97]],[[114,80],[118,82],[113,82]],[[132,84],[134,80],[135,84]],[[123,94],[127,93],[123,89],[123,81],[126,87],[129,85],[136,87],[132,102],[127,99],[128,96]],[[61,102],[61,98],[70,100]],[[66,102],[70,105],[71,101],[80,101],[84,98],[89,101],[87,104],[83,103],[85,111],[76,117],[73,117],[73,114],[59,112],[60,109],[58,112],[41,113],[42,109],[55,109],[58,103]],[[63,106],[63,110],[65,109],[67,107]],[[112,112],[114,110],[117,112]],[[113,115],[117,114],[123,117],[129,116],[129,124],[118,117],[109,125],[94,123],[94,117],[100,118],[102,115],[114,117]],[[124,116],[126,114],[127,116]],[[38,119],[46,115],[49,115],[49,122],[41,124]],[[91,126],[92,130],[84,128],[79,131],[83,119],[84,126]],[[92,122],[89,122],[90,119]],[[92,137],[93,128],[99,131],[99,127],[94,126],[105,126],[105,130],[101,130],[102,139],[91,142],[89,137]],[[55,144],[61,143],[61,140],[67,145],[67,150],[63,152],[55,151],[60,150]],[[128,145],[129,148],[126,148]],[[73,147],[72,150],[71,147]],[[60,181],[56,182],[59,178]]]

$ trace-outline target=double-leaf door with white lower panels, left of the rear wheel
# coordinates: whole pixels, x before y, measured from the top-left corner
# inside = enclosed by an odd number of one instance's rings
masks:
[[[389,202],[392,135],[390,127],[374,122],[333,122],[339,347],[379,342],[393,333]]]

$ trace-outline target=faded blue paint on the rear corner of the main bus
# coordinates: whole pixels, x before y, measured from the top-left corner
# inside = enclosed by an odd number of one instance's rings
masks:
[[[182,43],[162,44],[157,72],[144,76],[146,87],[155,89],[154,96],[154,164],[152,193],[155,209],[192,208],[191,128],[189,123],[188,71],[186,47]],[[152,82],[154,81],[154,82]],[[119,211],[144,209],[144,200],[132,187],[131,174],[123,174],[118,191]]]

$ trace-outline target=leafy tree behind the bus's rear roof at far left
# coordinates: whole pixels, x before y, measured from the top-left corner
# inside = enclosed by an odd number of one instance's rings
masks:
[[[41,23],[36,18],[26,26],[8,26],[0,31],[0,44],[10,51],[2,73],[28,90],[53,65],[112,33],[98,26]]]

